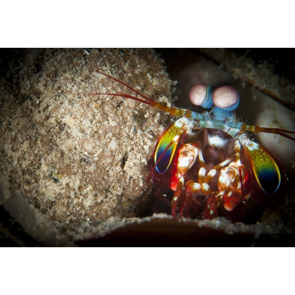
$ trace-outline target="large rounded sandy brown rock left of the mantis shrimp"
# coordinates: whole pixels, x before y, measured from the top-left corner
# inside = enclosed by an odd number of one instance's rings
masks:
[[[171,80],[153,50],[28,50],[1,79],[0,169],[43,214],[65,222],[135,217],[152,186],[147,160],[170,119],[115,76],[169,104]]]

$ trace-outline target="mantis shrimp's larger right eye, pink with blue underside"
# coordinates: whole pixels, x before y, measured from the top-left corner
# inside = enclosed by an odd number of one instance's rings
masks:
[[[215,106],[226,111],[233,111],[240,103],[240,96],[234,87],[221,86],[214,90],[212,100]]]

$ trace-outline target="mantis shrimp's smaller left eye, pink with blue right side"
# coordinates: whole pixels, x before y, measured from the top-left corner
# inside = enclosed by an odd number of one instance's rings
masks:
[[[209,109],[212,106],[212,88],[204,83],[196,84],[189,92],[189,99],[196,106]]]

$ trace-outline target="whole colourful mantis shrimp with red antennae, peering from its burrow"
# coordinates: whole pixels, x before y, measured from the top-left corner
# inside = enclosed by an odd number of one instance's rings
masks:
[[[222,206],[232,211],[250,196],[262,208],[276,205],[287,180],[283,167],[273,153],[250,140],[244,132],[278,134],[290,140],[295,138],[288,133],[295,132],[239,122],[234,110],[240,96],[234,87],[221,86],[213,91],[204,83],[193,86],[189,93],[191,102],[210,109],[197,113],[160,104],[112,76],[93,71],[117,81],[137,96],[122,92],[90,95],[133,99],[181,117],[159,136],[147,178],[152,179],[160,192],[175,191],[171,204],[173,216],[190,217],[192,208],[197,207],[196,210],[202,208],[199,217],[213,218]],[[205,130],[207,145],[199,140],[186,143],[186,134],[192,130]],[[230,150],[229,142],[233,142],[232,153],[226,154],[224,151]],[[204,160],[203,153],[210,153],[211,158]]]

